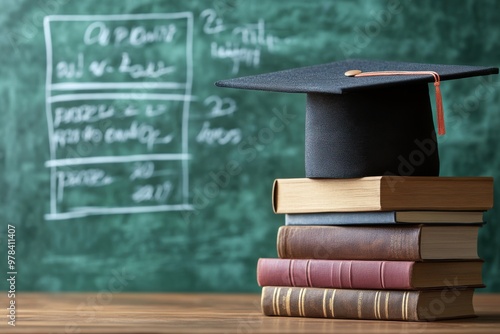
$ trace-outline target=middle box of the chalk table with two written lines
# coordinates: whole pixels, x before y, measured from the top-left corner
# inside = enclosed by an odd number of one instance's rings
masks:
[[[109,95],[51,103],[52,160],[182,153],[183,99],[108,99]]]

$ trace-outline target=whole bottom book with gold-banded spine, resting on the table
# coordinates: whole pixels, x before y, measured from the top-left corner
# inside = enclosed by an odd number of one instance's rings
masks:
[[[262,288],[262,312],[270,316],[434,321],[475,317],[474,289],[355,290]]]

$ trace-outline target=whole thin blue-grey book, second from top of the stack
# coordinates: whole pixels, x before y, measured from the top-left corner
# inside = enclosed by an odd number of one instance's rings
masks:
[[[286,225],[479,224],[483,211],[370,211],[286,214]]]

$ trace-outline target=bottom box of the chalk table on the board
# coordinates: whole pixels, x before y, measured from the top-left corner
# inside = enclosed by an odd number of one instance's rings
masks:
[[[189,204],[184,201],[181,164],[177,160],[137,159],[58,166],[56,213],[76,218],[83,214],[139,212],[145,207],[150,211],[186,208]]]

